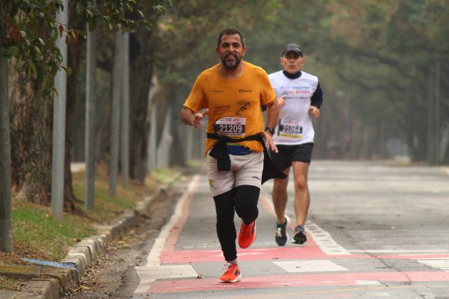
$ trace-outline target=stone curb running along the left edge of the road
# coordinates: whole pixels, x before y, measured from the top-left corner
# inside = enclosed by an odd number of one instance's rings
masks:
[[[182,176],[182,174],[181,174]],[[114,219],[112,224],[97,226],[98,235],[82,239],[69,249],[69,253],[61,262],[71,264],[70,268],[51,268],[44,271],[46,278],[33,278],[27,282],[22,291],[0,290],[1,299],[59,299],[67,287],[72,283],[78,283],[85,269],[96,260],[105,244],[113,237],[132,226],[137,216],[145,214],[150,203],[165,194],[169,187],[178,177],[175,177],[166,186],[159,188],[152,196],[145,197],[143,201],[136,204],[134,210],[125,210],[122,215]]]

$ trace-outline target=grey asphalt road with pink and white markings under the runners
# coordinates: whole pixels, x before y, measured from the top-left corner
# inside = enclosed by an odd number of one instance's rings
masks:
[[[170,221],[148,239],[132,298],[449,298],[447,168],[313,161],[301,246],[274,242],[266,183],[257,239],[238,248],[235,284],[218,282],[224,260],[206,177],[185,184]],[[291,181],[289,194],[293,216]]]

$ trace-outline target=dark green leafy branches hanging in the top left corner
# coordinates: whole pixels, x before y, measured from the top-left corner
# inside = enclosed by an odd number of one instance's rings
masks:
[[[94,30],[98,23],[107,24],[112,31],[131,30],[146,26],[151,21],[143,15],[141,6],[154,6],[164,12],[168,0],[80,0],[76,1],[76,17],[89,23]],[[64,10],[62,0],[2,0],[0,5],[0,54],[15,58],[17,71],[26,71],[28,77],[42,83],[45,93],[53,89],[53,78],[61,67],[62,57],[55,41],[77,42],[84,36],[84,28],[72,28],[69,24],[58,24],[55,13]],[[75,23],[75,22],[73,22]],[[68,71],[68,68],[64,68]]]

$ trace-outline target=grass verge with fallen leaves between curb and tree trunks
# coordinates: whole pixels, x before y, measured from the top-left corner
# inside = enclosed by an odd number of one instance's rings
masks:
[[[58,262],[80,239],[96,234],[97,224],[109,224],[138,201],[153,194],[161,183],[179,175],[178,170],[157,169],[145,183],[130,181],[117,185],[117,196],[109,196],[109,179],[96,175],[94,210],[86,210],[85,173],[73,173],[73,192],[77,197],[76,212],[64,213],[62,221],[51,217],[51,208],[35,203],[12,201],[12,253],[0,253],[0,265],[27,264],[22,257]],[[17,290],[20,281],[0,275],[0,289]]]

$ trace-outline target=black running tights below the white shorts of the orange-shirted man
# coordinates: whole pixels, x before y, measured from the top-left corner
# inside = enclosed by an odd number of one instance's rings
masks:
[[[234,226],[234,210],[245,224],[250,224],[258,216],[257,201],[260,188],[253,185],[240,185],[234,189],[213,197],[217,212],[217,235],[224,259],[228,262],[236,260],[236,226]]]

